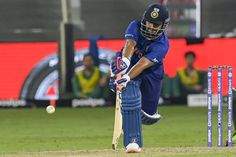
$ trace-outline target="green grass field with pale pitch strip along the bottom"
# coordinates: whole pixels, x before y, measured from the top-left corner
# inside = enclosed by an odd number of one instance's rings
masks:
[[[224,110],[226,112],[226,110]],[[144,148],[125,154],[122,140],[111,149],[114,108],[58,108],[0,110],[0,156],[235,156],[234,148],[207,148],[206,107],[161,106],[163,119],[143,126]],[[216,124],[216,108],[214,109]],[[226,126],[226,114],[224,114]],[[226,127],[224,127],[226,128]],[[216,145],[216,125],[213,139]],[[226,129],[224,129],[224,139]]]

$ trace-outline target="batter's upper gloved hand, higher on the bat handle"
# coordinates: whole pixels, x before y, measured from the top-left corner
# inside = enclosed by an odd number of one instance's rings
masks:
[[[111,72],[115,75],[125,74],[129,65],[130,61],[128,58],[117,57],[117,59],[111,63]]]

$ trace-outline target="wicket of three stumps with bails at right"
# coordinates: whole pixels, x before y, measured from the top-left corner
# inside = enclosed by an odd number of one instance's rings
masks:
[[[223,106],[223,96],[222,96],[222,71],[228,71],[228,146],[232,146],[232,67],[230,66],[212,66],[208,68],[207,73],[207,106],[208,106],[208,126],[207,126],[207,139],[208,147],[212,147],[212,71],[217,70],[217,102],[218,102],[218,147],[223,146],[222,142],[222,106]]]

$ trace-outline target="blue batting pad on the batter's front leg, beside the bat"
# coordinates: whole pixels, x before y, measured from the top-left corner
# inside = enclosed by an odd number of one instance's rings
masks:
[[[124,146],[135,142],[142,147],[141,92],[139,84],[130,81],[122,91],[121,110],[123,118]]]

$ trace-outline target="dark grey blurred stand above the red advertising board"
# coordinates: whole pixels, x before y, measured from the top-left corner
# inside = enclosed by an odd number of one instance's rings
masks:
[[[76,39],[103,35],[123,39],[128,23],[141,18],[146,7],[158,0],[67,0],[69,20]],[[0,41],[57,41],[62,21],[61,0],[0,1],[3,23]],[[208,37],[235,33],[234,0],[169,0],[170,38]]]

